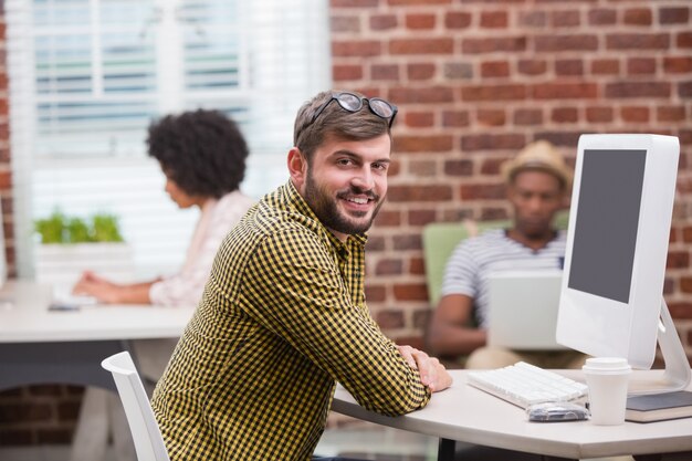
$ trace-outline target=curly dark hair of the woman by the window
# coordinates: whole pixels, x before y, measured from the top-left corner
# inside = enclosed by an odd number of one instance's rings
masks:
[[[167,115],[149,125],[148,153],[191,196],[214,197],[240,187],[248,145],[235,122],[218,111]]]

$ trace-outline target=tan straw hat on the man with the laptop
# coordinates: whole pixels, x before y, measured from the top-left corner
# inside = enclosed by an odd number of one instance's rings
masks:
[[[542,170],[554,175],[565,186],[572,187],[573,172],[565,163],[563,155],[547,140],[536,140],[524,147],[511,160],[502,164],[501,171],[504,180],[511,182],[514,177],[524,170]]]

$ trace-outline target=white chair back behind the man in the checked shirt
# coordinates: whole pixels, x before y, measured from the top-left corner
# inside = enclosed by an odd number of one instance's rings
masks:
[[[144,385],[129,353],[112,355],[101,366],[113,374],[139,461],[170,461]]]

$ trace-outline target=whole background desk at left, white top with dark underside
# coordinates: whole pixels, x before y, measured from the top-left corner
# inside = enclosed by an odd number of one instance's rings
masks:
[[[0,291],[0,390],[32,384],[115,389],[101,360],[130,339],[178,337],[191,308],[149,305],[49,311],[50,286],[10,281]]]

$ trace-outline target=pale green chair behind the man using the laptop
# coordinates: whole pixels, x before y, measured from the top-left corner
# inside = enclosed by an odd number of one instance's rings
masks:
[[[567,229],[568,223],[568,210],[559,211],[555,216],[557,229]],[[512,221],[505,219],[479,222],[431,222],[423,228],[423,261],[426,263],[426,283],[430,306],[436,307],[440,301],[444,266],[457,244],[471,237],[471,233],[480,234],[490,229],[508,228],[510,226],[512,226]],[[474,230],[475,232],[473,232]]]

